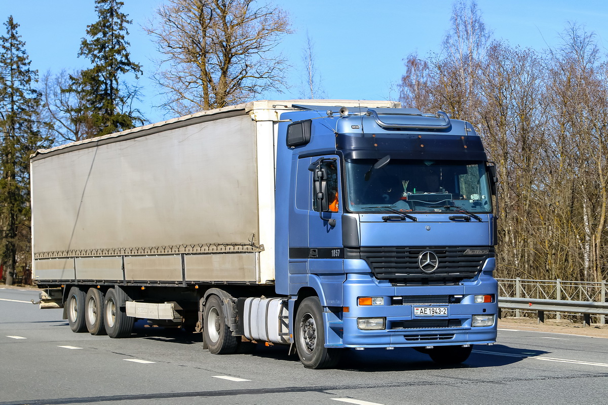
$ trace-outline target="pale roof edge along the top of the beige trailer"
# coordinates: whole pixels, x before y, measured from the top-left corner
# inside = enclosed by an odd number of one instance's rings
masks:
[[[171,120],[159,123],[139,126],[114,134],[103,135],[102,137],[89,138],[81,141],[66,143],[65,145],[55,146],[50,149],[38,149],[32,154],[32,160],[39,160],[52,155],[63,154],[78,149],[93,148],[95,146],[113,143],[122,140],[143,137],[167,129],[180,128],[182,126],[198,124],[205,121],[218,120],[220,118],[235,117],[238,115],[251,115],[256,121],[278,121],[279,115],[285,111],[295,111],[305,109],[309,106],[318,106],[319,109],[333,107],[387,107],[395,108],[401,104],[396,101],[378,100],[260,100],[249,101],[249,103],[237,104],[223,108],[199,111],[195,114],[184,115],[184,117],[172,118]]]

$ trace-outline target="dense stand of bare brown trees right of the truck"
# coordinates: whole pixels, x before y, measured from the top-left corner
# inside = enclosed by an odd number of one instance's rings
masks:
[[[458,0],[443,52],[410,55],[402,77],[402,102],[477,124],[497,163],[501,277],[608,276],[608,61],[581,26],[561,38],[544,53],[490,43]]]

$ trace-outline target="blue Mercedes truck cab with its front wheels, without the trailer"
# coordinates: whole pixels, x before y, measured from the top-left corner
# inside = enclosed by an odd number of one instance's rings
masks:
[[[294,107],[278,123],[275,290],[303,364],[395,347],[456,363],[496,341],[496,169],[471,124]]]

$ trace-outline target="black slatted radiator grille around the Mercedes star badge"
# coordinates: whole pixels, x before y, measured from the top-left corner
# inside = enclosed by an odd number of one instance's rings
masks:
[[[418,265],[418,256],[424,251],[437,255],[438,267],[433,273],[424,273]],[[449,284],[474,277],[485,260],[494,257],[494,248],[361,247],[347,248],[345,257],[364,259],[378,279],[405,284]]]

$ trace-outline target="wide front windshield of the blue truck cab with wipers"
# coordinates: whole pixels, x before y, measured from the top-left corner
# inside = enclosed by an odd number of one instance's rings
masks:
[[[378,162],[377,159],[345,162],[350,211],[492,211],[483,162],[399,159],[390,159],[384,165]]]

